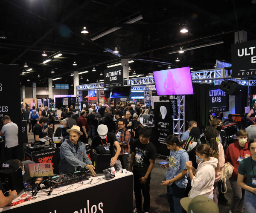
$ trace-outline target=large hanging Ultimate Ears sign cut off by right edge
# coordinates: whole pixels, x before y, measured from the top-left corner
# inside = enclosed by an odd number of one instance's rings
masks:
[[[232,78],[256,77],[256,40],[231,45]]]

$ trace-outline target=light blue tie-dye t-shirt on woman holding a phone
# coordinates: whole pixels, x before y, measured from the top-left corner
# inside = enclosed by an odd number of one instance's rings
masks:
[[[181,170],[186,170],[186,162],[189,161],[188,153],[181,149],[179,151],[171,151],[169,158],[169,169],[166,172],[166,180],[171,180],[181,173]],[[188,180],[186,176],[178,181],[175,184],[180,188],[186,188]]]

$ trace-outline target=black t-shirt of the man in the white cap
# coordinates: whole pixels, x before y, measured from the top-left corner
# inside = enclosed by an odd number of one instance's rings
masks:
[[[117,141],[116,135],[108,132],[107,138],[108,138],[108,149],[110,150],[111,157],[113,157],[115,155],[113,144],[115,141]],[[92,140],[92,148],[95,150],[96,147],[102,146],[102,143],[104,144],[104,147],[107,147],[107,138],[103,140],[102,138],[100,138],[99,135],[95,136]]]

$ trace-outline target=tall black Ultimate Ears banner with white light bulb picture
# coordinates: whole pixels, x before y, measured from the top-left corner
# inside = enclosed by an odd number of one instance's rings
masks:
[[[166,138],[172,135],[172,109],[169,101],[154,102],[155,140],[151,141],[156,147],[157,154],[169,156]]]

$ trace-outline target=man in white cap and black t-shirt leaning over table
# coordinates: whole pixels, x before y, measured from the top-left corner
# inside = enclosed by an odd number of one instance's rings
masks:
[[[98,126],[98,133],[92,140],[92,148],[94,152],[96,152],[96,147],[104,146],[105,149],[110,150],[111,153],[111,163],[110,165],[113,166],[116,164],[116,160],[120,154],[121,147],[116,139],[116,135],[114,133],[108,132],[107,125],[100,124]],[[114,146],[116,147],[116,154],[114,153]]]

